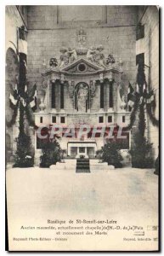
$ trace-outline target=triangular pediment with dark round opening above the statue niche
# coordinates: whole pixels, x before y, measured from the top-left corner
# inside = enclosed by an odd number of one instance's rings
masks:
[[[70,65],[62,68],[60,71],[66,73],[95,73],[103,70],[101,67],[93,64],[91,61],[85,60],[83,58],[74,61]]]

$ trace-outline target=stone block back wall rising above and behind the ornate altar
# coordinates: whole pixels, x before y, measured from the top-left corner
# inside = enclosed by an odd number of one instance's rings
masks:
[[[81,26],[87,32],[87,46],[103,44],[106,57],[112,53],[116,61],[122,58],[124,84],[127,85],[128,80],[134,81],[137,8],[132,6],[96,8],[98,12],[93,14],[93,7],[76,7],[75,17],[71,17],[72,7],[30,6],[28,8],[28,79],[31,84],[37,82],[37,86],[41,86],[42,62],[46,61],[48,64],[52,56],[59,60],[61,46],[77,46],[76,32]],[[92,19],[87,14],[91,15]]]

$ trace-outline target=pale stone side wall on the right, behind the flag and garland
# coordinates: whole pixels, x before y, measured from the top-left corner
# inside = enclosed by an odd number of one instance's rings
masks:
[[[139,21],[144,25],[144,38],[137,42],[138,54],[144,53],[146,79],[149,89],[155,90],[156,119],[159,119],[159,12],[156,6],[139,7]],[[139,44],[139,45],[138,45]],[[158,154],[159,130],[147,117],[147,135],[153,143],[154,156]]]

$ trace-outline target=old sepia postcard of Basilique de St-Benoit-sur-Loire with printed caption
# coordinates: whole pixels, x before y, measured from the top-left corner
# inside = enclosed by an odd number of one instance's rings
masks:
[[[9,251],[159,250],[159,8],[6,6]]]

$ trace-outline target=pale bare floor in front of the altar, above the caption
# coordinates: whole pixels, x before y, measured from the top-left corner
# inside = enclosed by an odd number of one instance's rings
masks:
[[[47,219],[55,218],[113,218],[119,224],[156,225],[158,177],[153,172],[134,168],[96,173],[9,169],[9,239],[25,232],[20,230],[22,224],[46,225]]]

